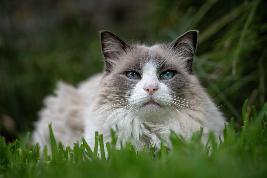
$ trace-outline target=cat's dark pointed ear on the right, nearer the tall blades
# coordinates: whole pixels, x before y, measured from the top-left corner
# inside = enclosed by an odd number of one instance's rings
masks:
[[[192,73],[193,57],[196,51],[196,44],[198,41],[198,31],[190,30],[179,36],[176,40],[171,42],[170,47],[177,53],[186,59],[185,64],[189,73]]]

